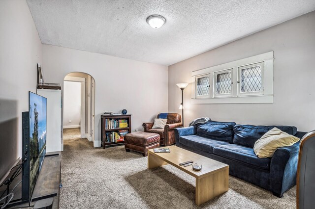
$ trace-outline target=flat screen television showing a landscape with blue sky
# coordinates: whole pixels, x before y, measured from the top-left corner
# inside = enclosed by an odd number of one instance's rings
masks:
[[[22,113],[23,149],[22,200],[32,194],[46,155],[47,99],[29,92],[29,111]]]

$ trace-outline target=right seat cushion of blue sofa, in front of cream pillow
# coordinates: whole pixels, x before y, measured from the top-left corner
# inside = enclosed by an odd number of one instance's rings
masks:
[[[253,167],[264,170],[270,169],[270,158],[259,158],[255,155],[254,150],[237,144],[219,145],[213,148],[213,154],[226,157],[235,161],[243,162]]]

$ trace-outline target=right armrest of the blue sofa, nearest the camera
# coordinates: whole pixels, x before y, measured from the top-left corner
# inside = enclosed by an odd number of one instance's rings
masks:
[[[296,184],[299,147],[300,141],[278,148],[271,158],[269,188],[278,197]]]

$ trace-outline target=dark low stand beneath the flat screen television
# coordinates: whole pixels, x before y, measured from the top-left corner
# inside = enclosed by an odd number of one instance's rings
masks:
[[[20,161],[19,163],[21,163]],[[17,166],[18,167],[18,166]],[[12,172],[8,175],[10,177],[17,168],[13,169]],[[61,171],[61,152],[52,152],[47,153],[42,164],[41,171],[38,175],[38,179],[34,188],[32,195],[32,202],[29,204],[29,201],[22,201],[22,184],[14,190],[14,197],[11,202],[6,207],[7,209],[18,207],[25,208],[33,206],[37,201],[53,198],[52,209],[59,208],[59,191],[60,191],[60,171]],[[6,178],[7,179],[7,178]],[[18,175],[10,185],[10,191],[13,187],[22,180],[22,174]],[[2,188],[3,187],[3,188]],[[0,187],[0,194],[6,189],[6,186]],[[2,206],[0,203],[0,206]]]

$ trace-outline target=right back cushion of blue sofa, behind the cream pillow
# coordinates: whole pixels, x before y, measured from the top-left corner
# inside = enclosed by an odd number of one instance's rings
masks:
[[[234,138],[233,143],[246,147],[254,147],[255,142],[261,138],[263,134],[278,128],[290,135],[295,135],[297,132],[294,126],[252,126],[252,125],[236,125],[233,127]]]

